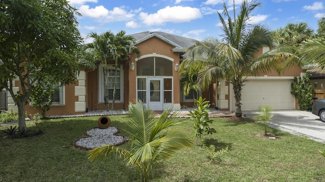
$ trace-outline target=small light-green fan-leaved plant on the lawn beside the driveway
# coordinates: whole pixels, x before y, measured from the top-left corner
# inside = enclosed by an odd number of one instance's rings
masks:
[[[257,115],[253,119],[257,122],[262,122],[264,124],[265,130],[264,134],[267,135],[267,124],[273,118],[273,108],[270,105],[260,105],[258,107]]]

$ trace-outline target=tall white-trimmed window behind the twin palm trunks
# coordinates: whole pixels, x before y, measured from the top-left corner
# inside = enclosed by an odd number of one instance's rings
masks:
[[[107,71],[107,84],[108,84],[108,97],[109,100],[113,100],[113,91],[114,91],[114,80],[115,80],[115,65],[108,65],[106,68]],[[103,65],[99,65],[99,96],[98,102],[104,103],[104,96],[105,96],[105,83],[104,83],[104,67]],[[116,102],[123,102],[123,68],[122,65],[117,67],[116,72],[116,95],[115,101]]]

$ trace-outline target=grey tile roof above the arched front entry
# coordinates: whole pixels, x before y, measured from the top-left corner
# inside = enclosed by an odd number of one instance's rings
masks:
[[[140,33],[131,34],[136,39],[136,44],[144,42],[152,37],[157,37],[175,48],[173,52],[184,52],[187,48],[193,46],[195,43],[193,39],[180,37],[178,35],[165,33],[162,31],[144,31]]]

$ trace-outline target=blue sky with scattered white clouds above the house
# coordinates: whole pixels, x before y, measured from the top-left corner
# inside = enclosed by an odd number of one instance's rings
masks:
[[[234,14],[234,0],[68,0],[82,16],[77,16],[79,30],[85,43],[90,32],[121,30],[126,34],[143,31],[163,31],[186,38],[221,39],[220,20],[225,3]],[[235,0],[235,13],[243,0]],[[325,1],[317,0],[259,0],[250,23],[266,25],[270,30],[287,23],[305,22],[317,32],[317,20],[325,16]]]

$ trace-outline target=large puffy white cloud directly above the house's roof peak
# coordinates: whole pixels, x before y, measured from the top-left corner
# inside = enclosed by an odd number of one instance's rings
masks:
[[[141,12],[139,16],[146,25],[164,25],[166,22],[189,22],[191,20],[201,18],[202,14],[198,8],[168,6],[153,14]]]

